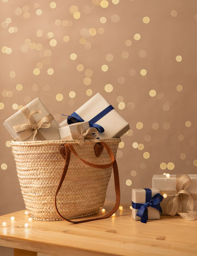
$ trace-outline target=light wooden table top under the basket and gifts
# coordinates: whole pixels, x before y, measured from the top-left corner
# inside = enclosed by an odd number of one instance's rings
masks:
[[[81,224],[33,220],[25,229],[10,220],[14,216],[24,225],[30,217],[24,212],[0,217],[0,245],[54,256],[197,255],[197,221],[180,216],[161,216],[144,224],[132,219],[127,205],[103,220]]]

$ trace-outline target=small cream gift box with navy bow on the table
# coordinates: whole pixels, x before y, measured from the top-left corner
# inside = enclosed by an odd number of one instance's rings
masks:
[[[162,199],[158,189],[132,189],[132,218],[144,223],[147,219],[159,219]]]

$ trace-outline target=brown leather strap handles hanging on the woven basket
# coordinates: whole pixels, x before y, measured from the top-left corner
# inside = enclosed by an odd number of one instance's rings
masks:
[[[81,157],[79,157],[79,155],[76,153],[76,151],[73,148],[73,145],[71,143],[66,143],[64,145],[64,148],[65,148],[65,166],[64,166],[64,170],[62,172],[62,177],[61,177],[61,179],[59,181],[59,185],[58,185],[57,190],[56,190],[56,195],[55,195],[55,198],[54,198],[54,205],[55,205],[55,209],[56,209],[56,212],[59,215],[59,217],[61,217],[62,219],[66,220],[66,221],[69,221],[69,222],[72,222],[72,223],[82,223],[82,222],[87,222],[87,221],[100,220],[100,219],[103,219],[103,218],[110,217],[118,209],[118,206],[120,204],[120,183],[119,183],[119,175],[118,175],[118,166],[117,166],[114,154],[113,154],[110,146],[107,145],[107,143],[105,143],[105,142],[100,142],[100,143],[107,150],[107,153],[110,156],[111,163],[100,165],[100,164],[94,164],[94,163],[87,162],[86,160],[83,160]],[[62,153],[62,148],[60,149],[60,151]],[[67,218],[63,217],[59,213],[59,210],[57,209],[56,198],[57,198],[57,194],[58,194],[58,192],[59,192],[59,190],[60,190],[60,188],[62,186],[62,183],[63,183],[63,181],[65,179],[66,173],[68,171],[68,165],[69,165],[69,162],[70,162],[70,153],[71,152],[76,157],[78,157],[80,160],[82,160],[83,163],[87,164],[88,166],[92,166],[92,167],[99,168],[99,169],[107,169],[110,166],[113,166],[116,201],[115,201],[115,206],[113,207],[113,209],[110,212],[108,212],[106,215],[103,215],[103,216],[97,217],[97,218],[89,218],[89,219],[85,219],[85,220],[82,220],[82,221],[71,221],[70,219],[67,219]],[[63,155],[63,157],[64,157],[64,155]]]

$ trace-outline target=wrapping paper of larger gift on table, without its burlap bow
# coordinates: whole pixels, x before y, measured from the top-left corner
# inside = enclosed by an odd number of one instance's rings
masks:
[[[152,177],[152,186],[160,190],[161,195],[168,195],[173,194],[176,195],[176,179],[181,175],[170,175],[167,178],[165,175],[153,175]],[[191,179],[191,184],[186,189],[189,194],[194,198],[194,211],[197,211],[197,175],[196,174],[188,174]],[[173,196],[167,196],[166,198],[163,197],[163,201],[160,203],[162,208],[163,215],[168,215],[166,213],[166,207],[169,201],[173,198]],[[183,196],[183,208],[182,212],[187,212],[186,205],[187,205],[187,198],[188,196]]]

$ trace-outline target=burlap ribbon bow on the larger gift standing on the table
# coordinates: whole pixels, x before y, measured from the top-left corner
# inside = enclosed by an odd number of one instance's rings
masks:
[[[182,175],[176,182],[176,195],[172,198],[166,208],[166,212],[169,215],[175,215],[178,213],[182,218],[187,220],[194,220],[197,218],[197,212],[194,212],[194,199],[186,190],[191,184],[191,179],[188,175]],[[188,196],[186,209],[188,212],[182,212],[183,195]]]

